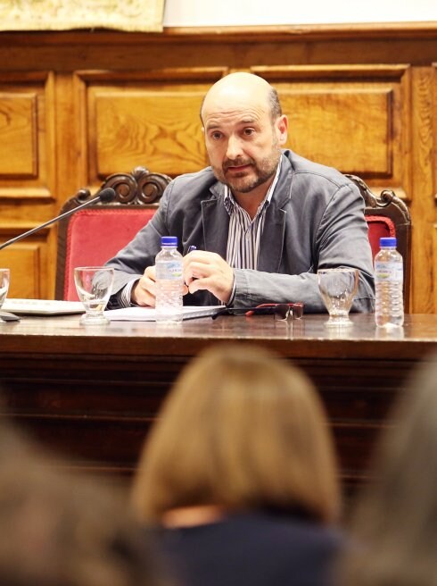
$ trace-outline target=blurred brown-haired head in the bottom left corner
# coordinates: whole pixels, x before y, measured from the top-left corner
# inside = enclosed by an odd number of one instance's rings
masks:
[[[0,427],[2,586],[162,586],[123,493]]]

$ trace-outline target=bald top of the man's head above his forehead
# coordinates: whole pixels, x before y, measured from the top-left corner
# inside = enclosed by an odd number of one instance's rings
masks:
[[[217,81],[203,98],[202,122],[205,121],[205,115],[211,111],[242,107],[254,102],[268,108],[272,121],[282,115],[276,89],[272,88],[266,80],[245,71],[230,73]]]

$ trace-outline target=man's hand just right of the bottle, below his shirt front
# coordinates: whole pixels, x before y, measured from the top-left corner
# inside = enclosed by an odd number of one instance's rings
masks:
[[[226,304],[234,286],[234,271],[217,253],[194,250],[184,256],[184,280],[190,293],[206,289]]]

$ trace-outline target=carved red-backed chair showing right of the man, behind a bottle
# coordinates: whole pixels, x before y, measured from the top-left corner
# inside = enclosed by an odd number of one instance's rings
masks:
[[[359,188],[366,202],[368,239],[375,258],[379,250],[379,239],[395,237],[397,249],[404,261],[404,307],[409,309],[409,288],[411,279],[411,214],[407,205],[392,189],[383,189],[375,196],[367,184],[356,175],[346,175]]]

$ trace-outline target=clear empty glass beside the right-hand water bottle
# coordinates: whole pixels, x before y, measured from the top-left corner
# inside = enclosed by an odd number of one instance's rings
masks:
[[[318,289],[329,314],[326,325],[350,325],[350,307],[359,286],[358,269],[320,269],[317,276]]]

